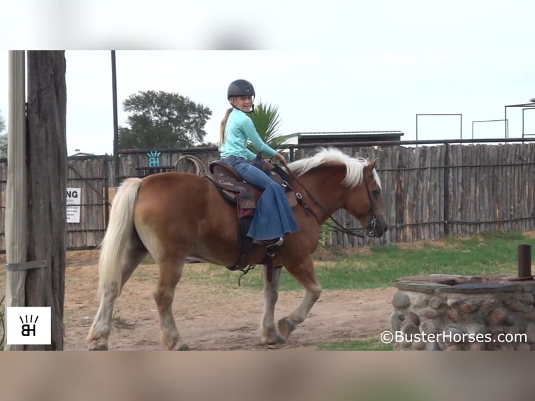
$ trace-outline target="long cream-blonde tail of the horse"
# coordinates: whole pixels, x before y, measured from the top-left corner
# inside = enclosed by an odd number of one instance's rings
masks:
[[[140,178],[128,178],[121,184],[113,199],[110,221],[100,245],[98,296],[105,291],[117,291],[117,295],[121,292],[122,256],[134,231],[133,212],[140,186]]]

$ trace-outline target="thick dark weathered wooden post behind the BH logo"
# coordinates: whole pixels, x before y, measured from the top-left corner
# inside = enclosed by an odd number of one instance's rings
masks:
[[[66,259],[67,141],[64,51],[28,52],[28,189],[30,261],[46,268],[27,272],[26,305],[51,307],[50,345],[63,349]]]

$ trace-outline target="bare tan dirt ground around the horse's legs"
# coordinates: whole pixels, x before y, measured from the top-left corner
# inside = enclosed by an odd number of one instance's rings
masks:
[[[68,252],[65,291],[65,349],[85,350],[85,337],[98,308],[96,251]],[[202,269],[202,264],[186,269]],[[222,268],[224,269],[224,268]],[[238,277],[238,273],[235,273]],[[163,350],[158,314],[152,298],[156,265],[140,265],[126,283],[115,305],[110,350]],[[395,288],[358,291],[324,290],[308,319],[286,344],[267,347],[260,342],[262,291],[214,289],[182,280],[175,293],[173,311],[177,326],[195,350],[316,349],[318,342],[378,338],[388,330],[388,316]],[[291,312],[302,291],[281,291],[275,319]]]

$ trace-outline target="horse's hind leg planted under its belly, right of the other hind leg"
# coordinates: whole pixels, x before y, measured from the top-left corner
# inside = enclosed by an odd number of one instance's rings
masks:
[[[154,291],[154,300],[160,317],[161,342],[167,349],[187,351],[188,345],[182,340],[173,316],[175,288],[182,277],[184,258],[168,258],[159,261],[160,276]]]

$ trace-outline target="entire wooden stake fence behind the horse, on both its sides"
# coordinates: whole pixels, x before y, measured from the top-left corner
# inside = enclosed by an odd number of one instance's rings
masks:
[[[358,247],[393,242],[438,240],[483,231],[535,230],[535,143],[339,147],[354,157],[378,158],[389,224],[382,238],[354,238],[332,231],[326,245]],[[294,159],[316,150],[294,145]],[[159,166],[147,152],[120,156],[119,179],[163,170],[195,173],[193,157],[207,168],[219,158],[214,150],[161,151]],[[154,163],[153,163],[154,164]],[[80,223],[68,224],[68,248],[96,247],[105,232],[108,203],[115,186],[111,156],[69,158],[68,187],[82,188]],[[5,249],[6,163],[0,161],[0,250]],[[110,193],[108,193],[108,191]],[[346,228],[358,228],[347,212],[335,213]]]

